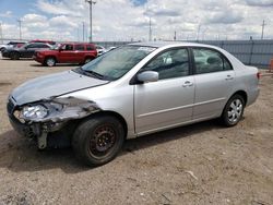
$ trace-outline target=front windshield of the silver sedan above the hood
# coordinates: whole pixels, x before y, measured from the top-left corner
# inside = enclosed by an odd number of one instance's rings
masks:
[[[155,48],[123,46],[106,52],[81,69],[85,72],[100,75],[105,80],[114,81],[124,75],[153,50]]]

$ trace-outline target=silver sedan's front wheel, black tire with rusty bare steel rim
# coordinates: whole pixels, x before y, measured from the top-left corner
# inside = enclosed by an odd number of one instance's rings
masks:
[[[96,116],[83,121],[72,136],[78,159],[87,166],[112,160],[124,142],[124,128],[111,116]]]

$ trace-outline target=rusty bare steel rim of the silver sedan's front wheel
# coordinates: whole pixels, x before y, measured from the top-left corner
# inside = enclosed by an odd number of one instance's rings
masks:
[[[112,150],[116,140],[117,133],[112,125],[100,125],[92,134],[88,152],[96,158],[105,157]]]

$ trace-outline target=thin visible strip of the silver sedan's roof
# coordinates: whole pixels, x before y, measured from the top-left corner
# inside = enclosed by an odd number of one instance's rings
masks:
[[[217,48],[215,46],[205,45],[205,44],[198,44],[198,43],[190,43],[190,41],[147,41],[147,43],[133,43],[129,44],[131,46],[143,46],[143,47],[174,47],[174,46],[193,46],[193,47],[209,47],[209,48]]]

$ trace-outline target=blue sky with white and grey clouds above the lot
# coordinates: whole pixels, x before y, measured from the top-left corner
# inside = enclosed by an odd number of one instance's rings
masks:
[[[273,0],[96,0],[93,40],[273,38]],[[84,0],[0,0],[4,38],[82,40],[88,34]],[[198,35],[199,34],[199,35]],[[86,40],[86,38],[85,38]]]

